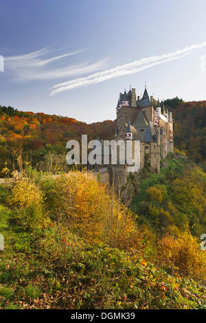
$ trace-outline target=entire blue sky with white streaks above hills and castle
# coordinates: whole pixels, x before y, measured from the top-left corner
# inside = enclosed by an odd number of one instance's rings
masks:
[[[115,120],[119,92],[206,100],[205,0],[1,0],[0,104]]]

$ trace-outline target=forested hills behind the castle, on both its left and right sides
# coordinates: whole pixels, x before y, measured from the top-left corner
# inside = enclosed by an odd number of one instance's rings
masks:
[[[206,169],[206,101],[183,102],[179,98],[164,101],[174,116],[174,146]],[[68,140],[80,140],[87,134],[89,140],[100,136],[111,139],[116,122],[106,120],[86,124],[72,118],[45,113],[21,112],[0,106],[0,170],[20,151],[32,165],[45,161],[49,153],[64,156]],[[15,155],[15,156],[14,156]],[[13,167],[14,168],[14,167]]]

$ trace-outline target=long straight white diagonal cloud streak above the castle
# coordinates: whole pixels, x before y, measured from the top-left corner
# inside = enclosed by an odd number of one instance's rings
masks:
[[[171,60],[183,58],[188,54],[191,54],[194,50],[203,48],[205,46],[206,42],[187,46],[183,49],[176,50],[176,52],[170,52],[159,56],[141,58],[139,60],[135,60],[132,63],[126,63],[124,65],[113,67],[111,69],[96,72],[87,77],[75,78],[73,80],[69,80],[68,82],[62,82],[52,87],[50,95],[53,96],[54,94],[60,93],[62,91],[68,91],[71,89],[75,89],[76,87],[84,87],[87,85],[96,84],[99,82],[103,82],[104,80],[109,80],[111,78],[117,78],[119,76],[134,74],[139,71],[143,71],[144,69],[148,69],[149,67],[153,67],[155,65],[160,65],[163,63],[170,62]]]

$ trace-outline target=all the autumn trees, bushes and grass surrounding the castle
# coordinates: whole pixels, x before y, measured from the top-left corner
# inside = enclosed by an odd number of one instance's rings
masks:
[[[206,309],[206,101],[164,103],[174,153],[122,188],[65,163],[115,121],[0,107],[1,309]]]

